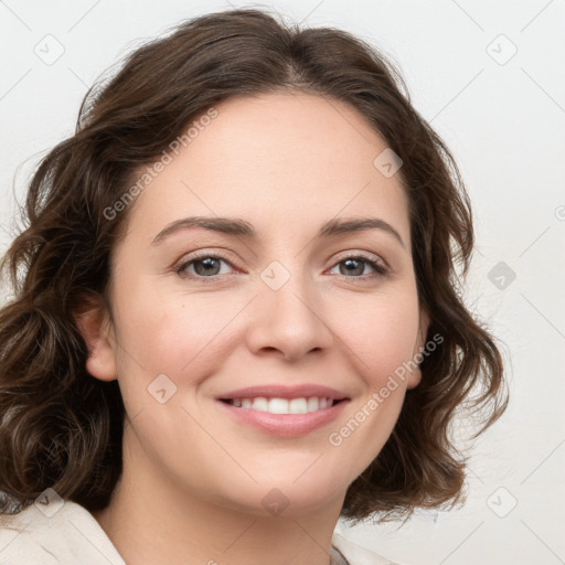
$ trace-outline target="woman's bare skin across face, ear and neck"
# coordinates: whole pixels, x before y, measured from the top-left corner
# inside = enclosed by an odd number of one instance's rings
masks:
[[[78,318],[88,372],[118,380],[127,412],[124,473],[95,518],[128,564],[259,565],[268,555],[273,565],[328,565],[347,489],[420,379],[398,381],[330,444],[424,345],[407,201],[399,174],[373,166],[387,143],[343,103],[268,94],[215,108],[128,210],[111,257],[113,322],[96,309]],[[193,215],[242,217],[257,241],[193,227],[152,245]],[[316,237],[335,216],[379,217],[404,246],[379,228]],[[196,250],[226,257],[214,281],[195,264],[174,271]],[[361,262],[350,274],[343,259],[360,254],[388,273]],[[278,290],[260,277],[274,260],[290,275]],[[177,386],[164,404],[148,392],[160,374]],[[239,424],[214,399],[265,383],[323,384],[350,401],[328,426],[282,438]],[[262,503],[274,488],[288,501],[277,515]]]

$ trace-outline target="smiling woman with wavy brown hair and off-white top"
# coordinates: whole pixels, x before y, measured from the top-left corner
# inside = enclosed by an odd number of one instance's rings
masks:
[[[448,427],[500,416],[502,363],[403,89],[348,33],[232,10],[86,96],[2,264],[2,563],[390,563],[338,519],[462,500]]]

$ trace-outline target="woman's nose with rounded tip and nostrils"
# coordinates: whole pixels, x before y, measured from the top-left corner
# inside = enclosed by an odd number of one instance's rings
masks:
[[[248,312],[250,351],[256,355],[278,354],[286,361],[327,351],[334,334],[329,311],[313,284],[291,274],[280,288],[275,288],[258,281],[258,296]]]

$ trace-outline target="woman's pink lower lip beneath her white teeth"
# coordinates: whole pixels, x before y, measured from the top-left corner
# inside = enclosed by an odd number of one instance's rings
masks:
[[[333,422],[349,401],[341,401],[333,406],[306,414],[271,414],[270,412],[233,406],[222,401],[216,402],[238,422],[265,434],[279,437],[300,437]]]

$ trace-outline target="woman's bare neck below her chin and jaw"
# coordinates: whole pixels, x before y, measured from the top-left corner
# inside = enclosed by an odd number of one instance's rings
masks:
[[[262,507],[203,499],[139,463],[124,458],[109,505],[93,513],[128,565],[330,565],[344,492],[322,508],[266,516]]]

